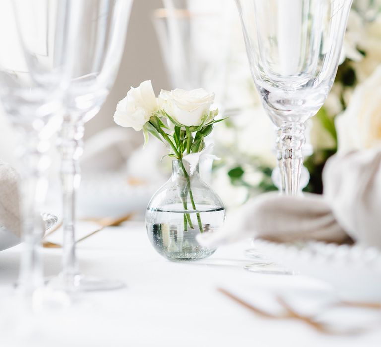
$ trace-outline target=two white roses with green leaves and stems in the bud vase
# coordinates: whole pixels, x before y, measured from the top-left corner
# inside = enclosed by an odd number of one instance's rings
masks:
[[[151,81],[144,81],[137,88],[131,87],[126,97],[118,103],[114,114],[114,121],[118,125],[132,127],[136,131],[142,130],[145,144],[149,135],[156,137],[169,148],[168,156],[180,161],[186,180],[183,189],[186,194],[181,195],[185,210],[188,210],[188,194],[192,209],[196,209],[190,175],[200,158],[216,158],[210,153],[212,147],[205,148],[204,141],[212,132],[214,124],[224,120],[215,119],[218,109],[210,110],[213,102],[214,93],[204,89],[162,90],[156,98]],[[188,170],[183,160],[188,162]],[[200,214],[196,215],[202,232]],[[193,229],[189,213],[184,213],[184,230],[188,226]]]

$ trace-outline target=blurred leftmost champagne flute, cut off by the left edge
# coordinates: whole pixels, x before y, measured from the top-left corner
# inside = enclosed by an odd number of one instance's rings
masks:
[[[76,1],[0,2],[0,98],[21,134],[20,212],[24,249],[18,289],[29,296],[44,284],[41,205],[50,136],[59,128],[61,100],[72,67]]]

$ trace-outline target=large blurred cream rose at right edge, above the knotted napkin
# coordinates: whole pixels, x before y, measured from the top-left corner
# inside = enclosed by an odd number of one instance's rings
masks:
[[[336,128],[340,152],[381,144],[381,65],[357,86]]]

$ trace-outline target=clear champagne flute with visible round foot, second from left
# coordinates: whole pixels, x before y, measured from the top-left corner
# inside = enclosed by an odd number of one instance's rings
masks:
[[[76,192],[80,184],[79,158],[83,152],[84,124],[104,103],[117,76],[126,40],[132,0],[79,0],[81,19],[74,52],[75,64],[60,131],[64,242],[62,271],[51,281],[68,292],[109,290],[120,281],[83,276],[75,245]]]

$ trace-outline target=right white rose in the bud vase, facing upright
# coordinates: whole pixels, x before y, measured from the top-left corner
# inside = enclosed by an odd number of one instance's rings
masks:
[[[176,122],[184,126],[200,125],[203,117],[210,111],[213,102],[214,93],[208,93],[202,88],[191,91],[162,90],[159,95],[161,108]]]

